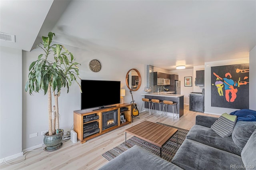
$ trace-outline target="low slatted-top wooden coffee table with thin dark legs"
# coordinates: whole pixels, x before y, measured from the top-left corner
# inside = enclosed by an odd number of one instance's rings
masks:
[[[174,134],[176,134],[177,136],[177,143],[174,143],[174,144],[178,144],[178,129],[160,125],[158,123],[144,121],[124,131],[125,131],[125,145],[126,145],[126,132],[127,132],[142,140],[145,140],[151,144],[154,144],[160,147],[160,157],[162,157],[162,147],[164,146],[164,144],[166,144],[166,142],[172,136],[174,136]]]

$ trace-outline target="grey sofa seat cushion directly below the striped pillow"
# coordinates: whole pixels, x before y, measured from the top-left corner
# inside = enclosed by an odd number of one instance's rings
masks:
[[[231,136],[228,138],[222,138],[208,127],[194,125],[189,130],[186,138],[212,146],[214,148],[225,150],[233,154],[237,154],[239,156],[241,154],[241,150],[236,147]]]

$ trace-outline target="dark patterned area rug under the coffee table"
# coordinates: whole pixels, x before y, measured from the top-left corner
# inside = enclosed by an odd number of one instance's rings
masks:
[[[166,124],[159,123],[159,122],[157,122],[157,123],[160,124],[160,125],[165,125],[165,126],[168,126],[168,127],[173,127],[173,128],[178,129],[178,145],[171,143],[171,142],[176,143],[176,141],[177,141],[176,135],[174,135],[172,138],[170,138],[170,140],[162,148],[162,158],[171,162],[172,158],[176,154],[178,148],[180,147],[182,142],[185,140],[186,135],[188,134],[189,130],[174,127],[174,126],[171,126],[171,125],[166,125]],[[122,152],[128,150],[129,148],[131,148],[134,145],[138,145],[138,146],[150,151],[151,153],[153,153],[157,156],[160,156],[160,148],[158,146],[155,146],[154,144],[148,143],[148,142],[146,142],[146,141],[144,141],[140,138],[137,138],[135,136],[126,140],[126,146],[125,146],[125,142],[123,142],[120,145],[114,147],[113,149],[108,150],[107,152],[102,154],[102,156],[110,161],[110,160],[114,159],[116,156],[120,155]]]

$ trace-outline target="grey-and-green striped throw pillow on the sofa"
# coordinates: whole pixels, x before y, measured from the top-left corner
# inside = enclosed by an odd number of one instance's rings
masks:
[[[214,122],[211,129],[220,135],[222,138],[231,136],[234,126],[236,125],[237,117],[223,113],[218,120]]]

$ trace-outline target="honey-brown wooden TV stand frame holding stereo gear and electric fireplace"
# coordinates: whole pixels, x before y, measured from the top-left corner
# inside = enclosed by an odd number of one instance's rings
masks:
[[[74,111],[74,131],[77,133],[77,138],[78,138],[78,140],[80,140],[81,143],[84,143],[84,142],[86,142],[87,140],[89,140],[91,138],[95,138],[96,136],[99,136],[101,134],[104,134],[106,132],[114,130],[116,128],[120,128],[124,125],[128,125],[132,122],[131,104],[124,103],[124,104],[115,104],[113,106],[114,107],[98,109],[98,110],[88,110],[88,109],[86,109],[86,110]],[[127,107],[128,110],[120,112],[120,108],[122,108],[122,107]],[[115,109],[118,109],[118,125],[116,125],[114,127],[107,128],[105,130],[102,130],[102,113],[103,112],[108,112],[108,111],[113,111]],[[84,116],[92,115],[92,114],[98,115],[99,119],[88,121],[88,122],[84,123]],[[126,119],[125,123],[122,123],[120,121],[120,115],[124,115],[124,117]],[[94,122],[94,121],[98,122],[100,131],[96,134],[92,134],[91,136],[87,136],[87,137],[84,138],[84,128],[83,128],[84,124],[91,123],[91,122]]]

